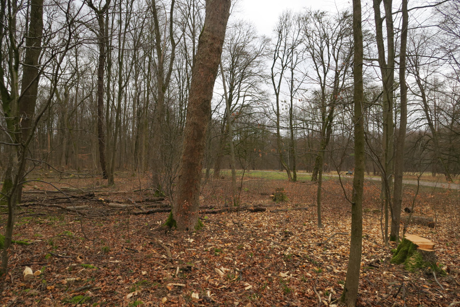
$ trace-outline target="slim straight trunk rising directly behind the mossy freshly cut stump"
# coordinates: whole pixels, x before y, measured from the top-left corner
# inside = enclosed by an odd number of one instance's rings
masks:
[[[398,140],[395,152],[395,188],[393,190],[392,226],[390,228],[390,240],[399,242],[399,225],[401,222],[402,204],[402,179],[404,170],[404,142],[407,129],[407,86],[406,86],[406,49],[407,27],[409,14],[407,1],[402,0],[402,31],[399,53],[399,86],[401,91],[401,116],[399,122]]]

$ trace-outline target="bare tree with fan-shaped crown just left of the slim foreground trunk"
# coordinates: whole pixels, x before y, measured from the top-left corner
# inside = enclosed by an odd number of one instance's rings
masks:
[[[349,86],[350,63],[353,55],[351,15],[345,11],[337,16],[326,12],[307,12],[304,19],[306,51],[312,62],[315,85],[315,100],[319,101],[318,155],[315,159],[311,180],[317,181],[316,207],[318,227],[321,222],[321,192],[323,184],[323,164],[325,151],[332,135],[333,120],[337,104]]]

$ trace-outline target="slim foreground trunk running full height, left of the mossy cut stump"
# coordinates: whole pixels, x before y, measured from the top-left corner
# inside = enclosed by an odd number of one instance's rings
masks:
[[[340,301],[348,307],[356,305],[361,268],[362,251],[362,194],[364,186],[364,94],[362,77],[362,28],[361,0],[353,0],[353,37],[354,37],[354,135],[355,135],[355,173],[352,195],[352,225],[350,238],[350,258],[347,267],[347,279]]]

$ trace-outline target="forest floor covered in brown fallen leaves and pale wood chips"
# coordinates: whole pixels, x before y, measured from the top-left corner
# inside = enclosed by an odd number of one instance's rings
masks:
[[[351,206],[344,192],[350,195],[351,179],[343,186],[337,179],[323,184],[320,229],[315,185],[246,178],[242,210],[216,213],[213,208],[228,203],[230,183],[210,180],[202,191],[204,228],[191,234],[155,230],[166,221],[169,201],[135,191],[148,186],[143,177],[119,174],[117,189],[101,186],[100,178],[51,173],[40,179],[68,198],[43,182],[25,187],[14,239],[30,244],[10,249],[0,306],[337,305],[350,248]],[[275,204],[270,194],[276,188],[284,188],[289,200]],[[415,214],[433,217],[435,227],[408,228],[436,244],[447,273],[437,274],[437,282],[427,270],[390,264],[396,245],[382,244],[379,196],[379,183],[367,181],[358,306],[460,301],[459,191],[421,187]],[[405,187],[403,207],[414,196],[415,187]],[[250,211],[260,207],[265,211]],[[2,213],[1,233],[5,221]],[[27,266],[38,276],[25,281]]]

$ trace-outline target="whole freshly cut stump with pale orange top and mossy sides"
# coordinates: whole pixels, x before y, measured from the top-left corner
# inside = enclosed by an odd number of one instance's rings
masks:
[[[436,264],[433,248],[434,243],[427,238],[408,234],[394,251],[392,264],[404,264],[404,268],[410,272],[430,268],[443,274],[444,271]]]

